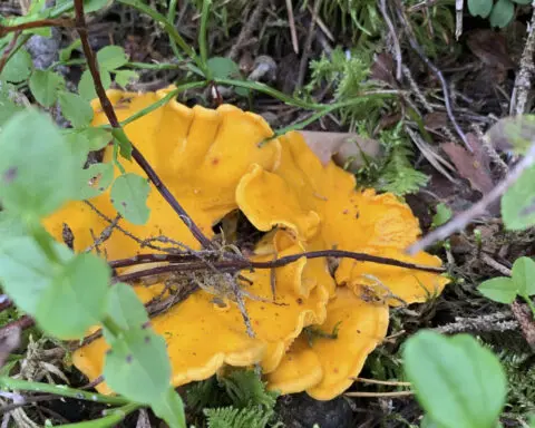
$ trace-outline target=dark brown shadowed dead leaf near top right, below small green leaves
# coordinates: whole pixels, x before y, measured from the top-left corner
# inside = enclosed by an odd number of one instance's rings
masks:
[[[507,40],[499,32],[475,30],[469,33],[466,43],[471,52],[487,66],[505,69],[515,67],[507,51]]]

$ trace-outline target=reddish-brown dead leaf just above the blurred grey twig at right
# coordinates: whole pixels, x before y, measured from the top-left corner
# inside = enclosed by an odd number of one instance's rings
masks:
[[[467,138],[474,148],[474,153],[469,153],[455,143],[441,144],[440,148],[449,156],[457,168],[457,173],[468,179],[474,189],[486,194],[494,187],[489,158],[477,136],[467,134]]]

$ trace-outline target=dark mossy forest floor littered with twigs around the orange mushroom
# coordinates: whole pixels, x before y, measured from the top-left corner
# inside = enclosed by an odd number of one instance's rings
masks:
[[[195,3],[202,2],[174,2],[176,28],[196,48],[201,14]],[[164,14],[168,11],[163,0],[150,0],[150,7]],[[0,12],[21,13],[21,2],[3,1]],[[405,197],[425,234],[444,216],[465,211],[487,194],[516,160],[483,135],[499,118],[519,108],[532,109],[532,94],[527,105],[519,106],[522,88],[515,85],[524,67],[531,20],[531,7],[517,7],[512,22],[496,29],[466,10],[456,17],[455,1],[440,0],[217,0],[207,33],[211,57],[231,58],[244,78],[284,94],[328,105],[351,99],[362,88],[377,90],[377,98],[329,113],[307,129],[371,139],[380,155],[353,167],[358,183]],[[138,70],[139,80],[129,89],[146,91],[187,82],[188,75],[166,33],[148,17],[115,4],[91,16],[88,25],[95,50],[116,45],[132,62],[156,65]],[[72,29],[55,29],[55,38],[62,49],[77,35]],[[38,50],[35,60],[45,55]],[[77,55],[81,57],[75,51],[72,59]],[[62,66],[72,87],[77,87],[82,70],[76,64]],[[234,104],[261,114],[274,129],[293,126],[313,114],[268,95],[247,98],[223,87],[191,89],[181,94],[179,100],[206,107],[221,101]],[[393,311],[391,339],[368,359],[362,378],[402,379],[399,348],[419,329],[469,332],[504,362],[512,393],[503,422],[522,426],[525,415],[535,411],[534,353],[509,308],[485,299],[476,288],[502,275],[518,256],[535,255],[535,230],[506,231],[499,205],[495,205],[430,251],[444,260],[454,282],[432,302]],[[281,398],[276,409],[289,427],[310,427],[312,422],[321,428],[419,424],[421,410],[412,397],[380,397],[391,390],[386,387],[359,385],[359,390],[379,396],[317,402],[296,395]],[[37,407],[41,416],[65,422],[94,414],[96,409],[90,406],[67,400]],[[135,426],[136,420],[124,424]]]

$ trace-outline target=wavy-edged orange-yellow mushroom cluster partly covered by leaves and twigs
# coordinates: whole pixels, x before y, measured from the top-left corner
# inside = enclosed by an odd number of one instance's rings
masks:
[[[109,90],[108,97],[124,120],[173,89]],[[95,100],[93,107],[93,125],[107,124],[100,104]],[[188,108],[175,100],[129,123],[125,132],[206,236],[213,237],[213,225],[236,211],[264,233],[250,255],[253,261],[337,249],[441,265],[424,252],[403,253],[420,233],[405,203],[391,194],[358,189],[353,175],[333,162],[322,164],[298,132],[260,144],[273,135],[262,117],[228,105]],[[113,162],[110,148],[104,162]],[[124,162],[124,167],[145,176],[135,163]],[[46,227],[61,241],[67,223],[75,251],[85,251],[95,233],[109,225],[105,217],[117,215],[108,191],[90,203],[99,213],[72,201],[47,218]],[[200,249],[155,188],[147,205],[148,222],[123,221],[127,233],[113,233],[99,245],[100,254],[117,260],[146,252],[132,235],[165,235],[168,242]],[[232,299],[222,304],[206,288],[152,319],[166,340],[174,386],[207,379],[225,366],[260,364],[272,390],[332,399],[351,386],[367,356],[385,339],[389,307],[422,302],[448,282],[420,270],[350,259],[333,266],[324,257],[304,256],[273,271],[241,275],[254,335],[247,333],[239,305]],[[144,302],[164,290],[162,283],[134,286]],[[94,380],[103,372],[106,350],[104,339],[96,339],[75,352],[74,363]],[[113,392],[105,382],[97,389]]]

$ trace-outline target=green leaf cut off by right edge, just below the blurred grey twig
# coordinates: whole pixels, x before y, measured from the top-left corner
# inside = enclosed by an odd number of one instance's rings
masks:
[[[502,217],[508,230],[523,230],[535,224],[535,166],[524,171],[505,192]]]

